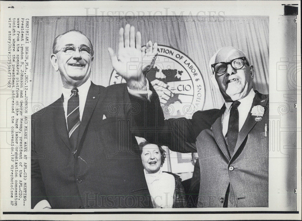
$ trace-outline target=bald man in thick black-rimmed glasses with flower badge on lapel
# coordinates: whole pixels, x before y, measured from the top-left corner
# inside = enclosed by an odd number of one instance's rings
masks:
[[[189,120],[164,120],[159,112],[157,134],[149,130],[146,139],[198,152],[198,207],[268,207],[268,95],[253,90],[253,66],[237,48],[221,48],[210,67],[223,107]]]

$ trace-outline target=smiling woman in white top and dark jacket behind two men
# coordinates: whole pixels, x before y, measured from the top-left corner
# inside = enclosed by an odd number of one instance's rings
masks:
[[[140,143],[140,156],[153,208],[186,207],[180,176],[161,170],[166,158],[165,150],[161,146],[144,141]]]

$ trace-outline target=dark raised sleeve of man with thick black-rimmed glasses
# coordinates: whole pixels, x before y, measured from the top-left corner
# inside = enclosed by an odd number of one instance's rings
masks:
[[[197,111],[192,119],[181,117],[165,120],[159,97],[151,84],[149,87],[152,91],[150,101],[131,96],[132,101],[140,107],[140,111],[133,115],[137,126],[136,136],[144,137],[150,143],[168,146],[173,151],[197,152],[194,145],[196,137],[202,130],[211,127],[221,115],[221,110]]]

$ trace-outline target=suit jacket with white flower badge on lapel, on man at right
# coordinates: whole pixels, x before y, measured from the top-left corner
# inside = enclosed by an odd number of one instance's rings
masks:
[[[268,133],[265,136],[268,95],[255,92],[252,107],[265,107],[265,114],[262,120],[255,121],[249,111],[232,157],[222,134],[225,107],[197,111],[192,119],[169,120],[164,120],[158,109],[156,132],[149,129],[146,133],[150,143],[167,145],[182,153],[198,152],[201,169],[198,207],[222,207],[229,183],[228,206],[268,206]],[[230,166],[234,170],[229,170]]]

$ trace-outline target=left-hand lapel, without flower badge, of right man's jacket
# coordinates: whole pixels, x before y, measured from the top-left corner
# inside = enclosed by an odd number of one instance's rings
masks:
[[[214,134],[214,138],[218,144],[218,147],[222,151],[223,155],[226,157],[226,159],[230,160],[230,154],[226,146],[226,142],[222,133],[222,124],[221,124],[222,117],[218,117],[217,120],[212,125],[212,131]]]

